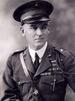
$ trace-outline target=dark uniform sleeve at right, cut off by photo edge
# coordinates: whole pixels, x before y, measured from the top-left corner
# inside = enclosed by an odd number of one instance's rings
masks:
[[[65,62],[65,77],[68,81],[69,86],[75,92],[75,56],[68,54],[64,59]]]

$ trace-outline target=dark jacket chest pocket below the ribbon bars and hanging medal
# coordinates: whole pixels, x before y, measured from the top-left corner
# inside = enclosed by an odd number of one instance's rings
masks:
[[[56,81],[54,81],[54,79],[56,79]],[[63,85],[64,83],[64,77],[62,74],[58,74],[56,75],[56,77],[54,75],[47,75],[47,76],[42,76],[41,80],[40,80],[40,88],[44,91],[50,92],[50,91],[54,91],[55,88],[58,86],[60,86],[61,84]]]

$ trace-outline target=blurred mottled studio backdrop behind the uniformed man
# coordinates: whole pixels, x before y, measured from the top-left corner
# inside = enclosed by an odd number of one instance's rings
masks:
[[[50,43],[75,54],[75,0],[46,1],[54,5],[50,16]],[[0,96],[7,58],[15,50],[26,46],[26,40],[21,36],[20,24],[12,18],[15,8],[23,2],[26,0],[0,0]],[[75,94],[69,87],[65,101],[75,101]]]

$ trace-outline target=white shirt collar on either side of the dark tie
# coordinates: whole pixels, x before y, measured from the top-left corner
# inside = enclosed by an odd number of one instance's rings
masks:
[[[41,49],[39,49],[37,51],[35,51],[35,50],[33,50],[33,49],[31,49],[29,47],[29,53],[30,53],[30,56],[31,56],[33,62],[35,61],[35,53],[38,54],[38,56],[39,56],[40,59],[43,57],[43,55],[45,53],[45,50],[47,48],[47,44],[48,43],[46,42],[45,45]]]

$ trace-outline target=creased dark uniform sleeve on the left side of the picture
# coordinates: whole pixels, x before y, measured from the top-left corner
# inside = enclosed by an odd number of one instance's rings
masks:
[[[19,97],[19,90],[13,79],[12,56],[10,56],[3,74],[3,97],[1,101],[20,101]]]

